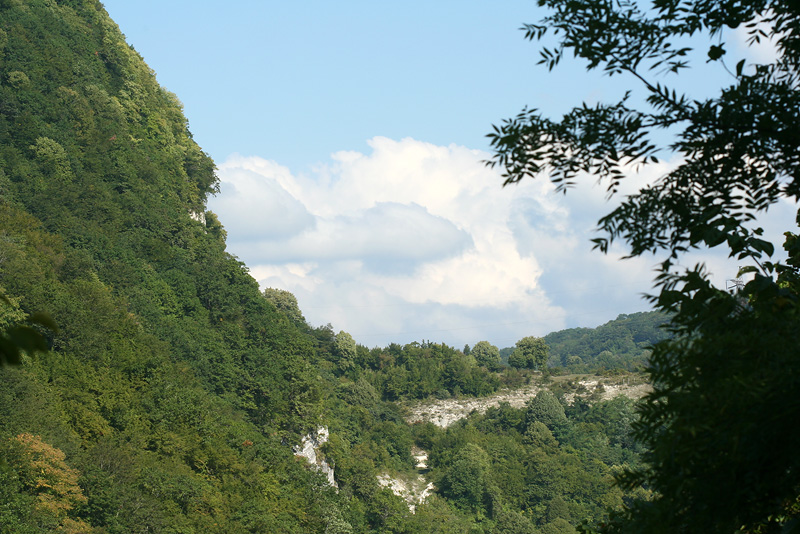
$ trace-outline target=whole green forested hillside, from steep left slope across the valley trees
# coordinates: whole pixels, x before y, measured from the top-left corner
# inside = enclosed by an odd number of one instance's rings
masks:
[[[485,395],[539,364],[313,328],[225,251],[215,190],[100,2],[0,1],[0,331],[57,325],[0,367],[0,532],[573,532],[622,504],[629,402],[409,426],[392,401]],[[293,454],[320,425],[338,489]],[[414,447],[437,493],[412,514],[376,477],[413,472]]]

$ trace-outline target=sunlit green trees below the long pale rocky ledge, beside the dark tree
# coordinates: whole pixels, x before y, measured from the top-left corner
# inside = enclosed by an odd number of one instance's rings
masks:
[[[606,508],[618,508],[623,497],[636,494],[615,487],[612,477],[637,461],[629,448],[634,445],[614,437],[625,420],[605,425],[600,419],[624,411],[620,406],[626,402],[600,401],[570,408],[567,415],[543,392],[531,400],[532,409],[501,404],[446,430],[420,427],[418,443],[430,450],[430,476],[440,494],[487,531],[574,530],[587,518],[592,524],[607,519]],[[528,418],[531,411],[549,416],[560,440],[545,423]]]

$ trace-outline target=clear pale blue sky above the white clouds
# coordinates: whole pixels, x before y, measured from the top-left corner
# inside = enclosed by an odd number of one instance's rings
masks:
[[[220,161],[299,171],[376,135],[485,148],[492,122],[525,103],[565,110],[603,82],[536,68],[518,31],[537,18],[531,1],[104,5]]]

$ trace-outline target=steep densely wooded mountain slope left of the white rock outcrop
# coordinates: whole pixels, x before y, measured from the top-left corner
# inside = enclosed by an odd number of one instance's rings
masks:
[[[315,342],[225,252],[215,187],[99,2],[0,3],[0,325],[59,326],[0,371],[4,532],[324,530],[281,443],[316,424]],[[31,469],[62,453],[59,492]]]

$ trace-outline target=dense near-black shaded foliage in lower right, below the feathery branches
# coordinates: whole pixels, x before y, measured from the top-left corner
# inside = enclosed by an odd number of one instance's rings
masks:
[[[800,286],[781,287],[783,281],[757,277],[745,288],[744,306],[742,295],[720,291],[698,273],[697,292],[681,299],[678,336],[653,352],[655,391],[635,427],[649,448],[648,465],[623,479],[652,484],[658,506],[635,509],[634,523],[754,530],[796,515],[800,483],[791,451],[800,434],[781,422],[797,415],[787,399],[800,370]],[[656,515],[673,509],[681,514],[669,522]]]

